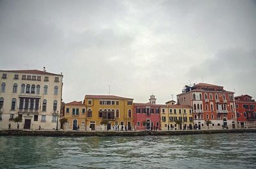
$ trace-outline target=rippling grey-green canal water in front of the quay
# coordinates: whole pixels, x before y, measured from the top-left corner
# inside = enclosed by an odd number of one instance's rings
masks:
[[[0,136],[0,168],[256,168],[256,133]]]

